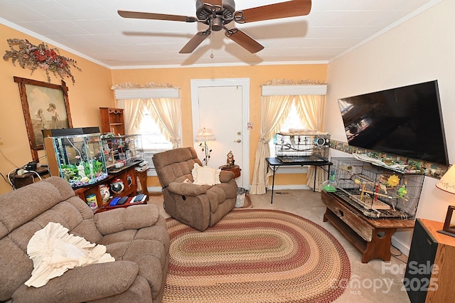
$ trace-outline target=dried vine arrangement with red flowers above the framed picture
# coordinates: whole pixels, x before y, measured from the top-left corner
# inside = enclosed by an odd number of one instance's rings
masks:
[[[8,41],[10,50],[6,50],[3,56],[4,60],[7,61],[11,58],[14,66],[16,66],[17,61],[21,68],[30,69],[31,74],[37,68],[42,68],[48,76],[48,83],[50,83],[49,72],[52,72],[55,77],[70,78],[74,85],[75,80],[71,73],[71,66],[82,71],[77,67],[75,60],[60,55],[57,48],[49,48],[43,42],[34,46],[26,39],[10,38],[6,41]]]

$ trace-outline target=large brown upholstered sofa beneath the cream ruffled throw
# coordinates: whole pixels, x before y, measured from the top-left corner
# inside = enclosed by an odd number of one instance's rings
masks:
[[[28,241],[49,222],[105,245],[115,261],[75,267],[43,287],[27,287],[33,270]],[[168,251],[166,222],[154,205],[94,215],[58,177],[0,196],[0,301],[161,302]]]

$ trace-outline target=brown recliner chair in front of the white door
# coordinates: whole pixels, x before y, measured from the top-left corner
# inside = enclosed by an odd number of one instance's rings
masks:
[[[181,223],[203,231],[215,225],[235,207],[237,184],[232,171],[220,171],[221,184],[196,185],[191,171],[202,166],[193,147],[171,149],[154,154],[153,162],[161,182],[164,208]]]

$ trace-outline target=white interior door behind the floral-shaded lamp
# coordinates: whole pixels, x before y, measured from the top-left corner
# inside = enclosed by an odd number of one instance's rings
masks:
[[[247,87],[245,87],[245,80],[240,83],[235,79],[194,81],[199,82],[193,83],[192,80],[191,85],[193,137],[196,137],[198,129],[203,127],[212,129],[216,139],[208,142],[208,149],[212,149],[208,166],[225,165],[228,153],[232,151],[235,164],[242,169],[240,177],[236,179],[237,185],[249,188],[250,139],[247,131],[248,107],[245,107],[245,103],[249,104],[245,102],[245,90],[247,90],[247,98],[250,95],[249,80]],[[201,160],[205,158],[199,142],[194,142],[194,147],[198,151],[199,158]]]

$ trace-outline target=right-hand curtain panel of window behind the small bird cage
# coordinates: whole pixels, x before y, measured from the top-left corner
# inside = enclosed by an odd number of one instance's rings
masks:
[[[325,100],[325,95],[295,96],[297,112],[310,129],[322,131],[322,111]],[[314,174],[316,174],[316,188],[314,190],[321,191],[321,184],[327,179],[325,171],[321,167],[316,169],[316,166],[309,166],[306,173],[306,185],[311,188],[314,187]]]

